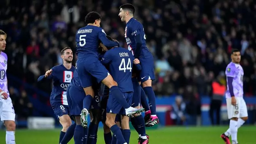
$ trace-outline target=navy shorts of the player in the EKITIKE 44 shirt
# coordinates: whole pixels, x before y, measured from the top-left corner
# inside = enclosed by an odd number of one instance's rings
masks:
[[[124,95],[124,98],[126,99],[127,103],[129,105],[131,105],[133,92],[123,93],[123,95]],[[113,114],[125,115],[125,109],[119,102],[116,101],[113,94],[109,94],[106,112],[113,113]]]

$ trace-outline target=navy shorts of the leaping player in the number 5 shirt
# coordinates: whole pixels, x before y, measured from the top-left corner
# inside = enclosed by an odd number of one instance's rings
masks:
[[[82,87],[89,87],[93,84],[93,77],[100,83],[109,72],[96,57],[87,57],[76,61],[76,68]]]

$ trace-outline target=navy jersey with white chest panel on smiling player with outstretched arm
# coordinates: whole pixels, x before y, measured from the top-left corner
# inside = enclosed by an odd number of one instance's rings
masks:
[[[52,68],[52,74],[47,77],[47,79],[53,80],[52,93],[50,96],[51,105],[54,103],[61,103],[63,105],[68,105],[67,101],[67,88],[73,77],[73,72],[75,67],[72,66],[70,69],[64,67],[64,65],[54,66]],[[38,81],[42,80],[44,76],[40,76]]]

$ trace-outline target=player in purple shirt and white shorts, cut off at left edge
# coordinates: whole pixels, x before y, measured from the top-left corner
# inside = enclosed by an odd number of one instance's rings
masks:
[[[15,144],[15,113],[12,106],[12,100],[9,97],[9,91],[7,89],[7,55],[3,52],[6,46],[6,37],[6,33],[0,29],[0,119],[1,121],[4,121],[6,128],[6,144]]]

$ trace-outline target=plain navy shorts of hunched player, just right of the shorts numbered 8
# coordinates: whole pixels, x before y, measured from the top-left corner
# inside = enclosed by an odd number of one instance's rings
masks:
[[[84,90],[81,90],[75,86],[68,86],[67,99],[68,107],[70,109],[70,116],[79,116],[81,114],[85,96]]]

